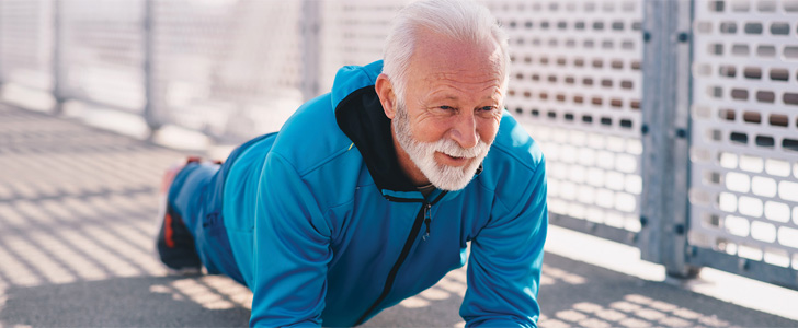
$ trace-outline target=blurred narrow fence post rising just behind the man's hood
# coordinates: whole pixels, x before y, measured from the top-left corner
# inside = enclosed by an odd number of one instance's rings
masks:
[[[301,92],[305,102],[319,94],[319,51],[321,15],[319,0],[303,0],[300,31],[303,37]]]

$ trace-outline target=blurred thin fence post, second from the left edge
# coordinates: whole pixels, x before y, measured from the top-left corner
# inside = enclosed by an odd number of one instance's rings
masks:
[[[162,126],[162,119],[159,117],[158,108],[155,101],[155,73],[153,73],[153,35],[155,35],[155,0],[144,0],[144,20],[142,20],[142,49],[144,49],[144,108],[141,115],[144,116],[147,127],[149,127],[151,139],[158,129]]]

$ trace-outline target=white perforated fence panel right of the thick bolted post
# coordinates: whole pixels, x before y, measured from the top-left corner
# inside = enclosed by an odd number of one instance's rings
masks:
[[[689,242],[796,270],[798,1],[697,1],[694,32]]]

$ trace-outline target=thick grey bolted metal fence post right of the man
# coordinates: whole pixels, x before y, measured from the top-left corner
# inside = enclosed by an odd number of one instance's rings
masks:
[[[645,1],[640,253],[670,276],[693,277],[689,226],[689,105],[693,1]]]

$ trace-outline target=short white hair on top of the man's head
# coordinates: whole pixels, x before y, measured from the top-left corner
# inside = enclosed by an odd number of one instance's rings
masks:
[[[502,55],[502,91],[506,91],[508,35],[490,11],[472,0],[422,0],[397,13],[383,51],[383,72],[388,75],[399,102],[404,101],[407,72],[421,30],[475,45],[495,42]]]

